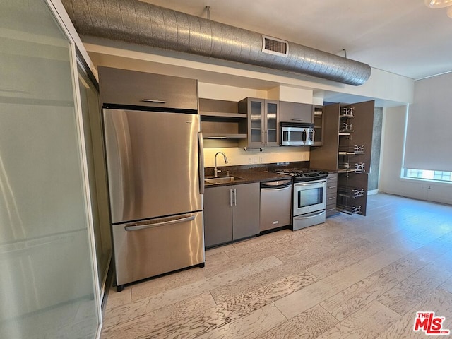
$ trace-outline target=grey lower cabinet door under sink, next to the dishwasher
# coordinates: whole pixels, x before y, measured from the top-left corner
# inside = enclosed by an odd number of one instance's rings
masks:
[[[259,233],[260,195],[258,182],[232,186],[232,239]]]

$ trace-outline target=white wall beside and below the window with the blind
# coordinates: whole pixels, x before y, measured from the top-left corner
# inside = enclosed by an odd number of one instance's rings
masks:
[[[452,184],[401,178],[407,109],[408,105],[384,110],[379,191],[452,204]]]

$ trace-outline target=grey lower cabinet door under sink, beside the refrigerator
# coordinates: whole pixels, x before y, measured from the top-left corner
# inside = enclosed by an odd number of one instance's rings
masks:
[[[232,242],[232,186],[207,187],[203,203],[206,247]]]

